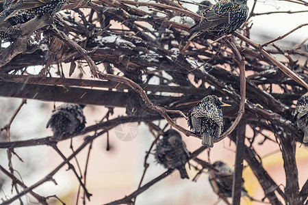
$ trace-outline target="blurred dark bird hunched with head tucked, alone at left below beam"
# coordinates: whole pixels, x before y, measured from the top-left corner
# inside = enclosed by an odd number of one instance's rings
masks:
[[[51,140],[60,141],[66,133],[80,133],[86,124],[84,117],[84,105],[64,103],[53,110],[51,118],[47,122],[47,128],[50,126],[53,130]]]

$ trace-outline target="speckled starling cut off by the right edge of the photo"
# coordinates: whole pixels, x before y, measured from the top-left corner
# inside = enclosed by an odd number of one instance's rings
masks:
[[[301,96],[294,111],[296,126],[304,132],[304,143],[308,143],[308,92]]]

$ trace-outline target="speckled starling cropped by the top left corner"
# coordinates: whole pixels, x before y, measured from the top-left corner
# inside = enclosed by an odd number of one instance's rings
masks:
[[[6,0],[3,4],[5,19],[11,25],[26,23],[36,16],[54,15],[68,0]]]

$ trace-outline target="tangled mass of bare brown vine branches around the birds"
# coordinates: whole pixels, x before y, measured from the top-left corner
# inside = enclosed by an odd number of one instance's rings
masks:
[[[248,20],[269,14],[255,13],[256,3]],[[296,3],[302,5],[303,2]],[[2,7],[3,1],[0,4]],[[192,4],[195,3],[188,5]],[[31,20],[27,25],[16,25],[8,31],[14,35],[11,35],[9,45],[6,42],[0,50],[0,96],[101,105],[108,107],[109,111],[102,122],[82,131],[80,135],[88,136],[69,156],[65,156],[57,143],[49,141],[48,137],[12,141],[10,124],[16,117],[13,115],[1,128],[1,131],[6,131],[7,139],[0,143],[0,148],[8,150],[8,161],[12,155],[18,156],[15,149],[47,145],[61,156],[62,162],[29,187],[14,174],[12,163],[9,163],[10,172],[0,165],[1,172],[12,180],[16,189],[16,194],[4,200],[3,204],[10,204],[27,194],[41,204],[47,204],[51,197],[57,198],[55,195],[43,197],[34,189],[47,181],[55,182],[53,176],[64,165],[68,165],[77,177],[86,203],[91,198],[86,186],[87,168],[84,175],[78,174],[70,163],[79,152],[88,148],[89,158],[94,139],[127,122],[145,122],[155,139],[164,131],[160,124],[153,122],[155,120],[168,122],[184,135],[198,137],[176,119],[186,118],[185,113],[190,107],[208,94],[216,94],[232,105],[224,110],[226,129],[216,142],[225,137],[236,141],[239,136],[235,136],[235,128],[245,130],[249,127],[254,132],[252,136],[238,132],[249,143],[244,143],[243,139],[237,144],[239,157],[235,164],[235,182],[242,177],[239,165],[244,157],[268,202],[303,204],[305,199],[300,196],[307,193],[307,182],[302,189],[299,188],[295,160],[296,143],[303,143],[303,133],[294,126],[292,111],[294,100],[308,89],[307,60],[303,60],[307,59],[308,53],[303,49],[305,41],[291,49],[279,48],[276,42],[307,24],[298,25],[262,45],[250,40],[249,21],[241,33],[235,32],[231,38],[195,38],[188,44],[188,29],[200,16],[185,8],[183,1],[69,1],[52,19],[53,23],[50,16],[43,17]],[[281,56],[285,57],[284,61],[277,60]],[[39,68],[38,73],[31,70],[34,66]],[[73,78],[78,71],[79,78]],[[21,107],[24,104],[25,101]],[[125,107],[126,116],[112,116],[110,120],[114,107]],[[275,138],[270,139],[264,134],[266,131],[274,133]],[[67,135],[62,141],[77,136]],[[264,169],[255,150],[257,136],[264,140],[262,143],[272,140],[278,144],[287,180],[284,189]],[[144,159],[143,176],[149,167],[147,158],[154,145],[155,140]],[[191,159],[204,150],[204,147],[197,149]],[[197,160],[196,169],[198,165],[211,169],[204,161]],[[110,204],[135,203],[140,193],[172,172],[169,169],[143,186],[142,176],[135,192]],[[242,185],[235,183],[234,186]],[[18,191],[19,187],[22,191]],[[238,200],[233,199],[235,204],[239,203],[240,195],[237,197]]]

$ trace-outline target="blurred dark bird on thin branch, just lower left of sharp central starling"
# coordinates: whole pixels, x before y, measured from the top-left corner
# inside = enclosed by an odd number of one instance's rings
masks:
[[[177,131],[170,129],[164,133],[164,137],[157,142],[155,158],[167,169],[178,169],[181,178],[189,178],[185,164],[190,159],[190,153]]]

